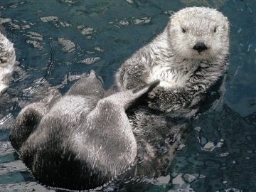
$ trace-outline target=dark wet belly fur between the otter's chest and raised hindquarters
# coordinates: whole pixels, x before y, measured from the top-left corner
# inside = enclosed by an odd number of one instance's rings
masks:
[[[129,112],[132,111],[132,114]],[[191,132],[189,121],[148,107],[130,109],[128,117],[137,140],[136,164],[120,178],[148,181],[168,173],[179,144]]]

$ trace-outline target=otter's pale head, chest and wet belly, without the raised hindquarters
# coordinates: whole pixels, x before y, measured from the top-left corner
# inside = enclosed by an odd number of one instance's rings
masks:
[[[211,28],[213,23],[223,27],[216,34]],[[218,11],[182,9],[171,16],[163,33],[134,53],[117,71],[113,86],[117,90],[160,80],[160,85],[148,95],[149,107],[142,104],[128,111],[137,140],[137,164],[125,173],[126,178],[166,174],[181,139],[191,132],[187,118],[212,109],[223,97],[228,32],[228,20]],[[211,38],[215,35],[220,38],[213,42]]]

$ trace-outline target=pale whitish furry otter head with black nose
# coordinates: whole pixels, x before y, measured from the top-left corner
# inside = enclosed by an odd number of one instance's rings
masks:
[[[209,60],[228,55],[228,18],[215,9],[181,9],[171,16],[167,30],[171,48],[181,58]]]

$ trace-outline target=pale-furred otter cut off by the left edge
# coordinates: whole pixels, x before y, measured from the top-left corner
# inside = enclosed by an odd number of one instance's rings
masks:
[[[14,43],[6,38],[4,26],[0,23],[0,92],[3,92],[9,84],[9,78],[14,70],[16,60]]]

